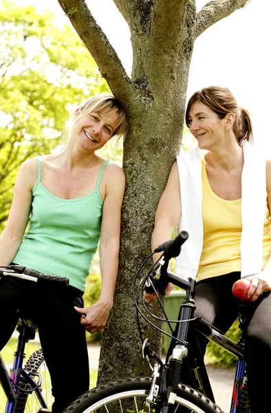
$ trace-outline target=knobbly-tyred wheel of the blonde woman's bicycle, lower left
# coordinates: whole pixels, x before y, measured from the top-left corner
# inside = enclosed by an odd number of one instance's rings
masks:
[[[41,376],[41,389],[43,399],[47,403],[47,408],[52,407],[54,398],[51,394],[51,379],[47,369],[43,351],[36,350],[28,359],[24,366],[28,372],[38,373]],[[33,377],[32,377],[33,378]],[[36,392],[31,391],[32,388],[28,383],[25,383],[23,378],[19,382],[19,390],[17,392],[14,413],[37,413],[41,409],[41,403],[36,397]]]

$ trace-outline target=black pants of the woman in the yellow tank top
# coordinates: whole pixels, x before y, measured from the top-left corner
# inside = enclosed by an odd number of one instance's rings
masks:
[[[195,289],[195,315],[200,315],[222,332],[237,319],[240,301],[232,295],[232,285],[240,273],[204,279]],[[271,388],[271,294],[263,293],[254,303],[248,303],[248,332],[245,356],[248,370],[250,413],[270,411]],[[208,340],[198,335],[202,353]],[[171,348],[169,348],[169,352]]]

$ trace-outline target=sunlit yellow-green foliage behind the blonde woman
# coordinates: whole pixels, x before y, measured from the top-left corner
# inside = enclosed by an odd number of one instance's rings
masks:
[[[78,36],[39,14],[3,1],[0,10],[0,229],[8,218],[19,165],[63,145],[69,114],[109,92]]]

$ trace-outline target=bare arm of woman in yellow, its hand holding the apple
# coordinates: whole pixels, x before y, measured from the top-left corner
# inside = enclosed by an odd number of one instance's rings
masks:
[[[266,191],[268,192],[268,209],[271,211],[271,160],[266,162]],[[250,301],[256,301],[261,293],[271,291],[271,254],[263,271],[257,276],[248,277],[248,279],[252,280],[248,290]]]

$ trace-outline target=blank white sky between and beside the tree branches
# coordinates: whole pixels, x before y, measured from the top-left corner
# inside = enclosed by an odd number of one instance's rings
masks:
[[[56,22],[69,23],[57,0],[13,1],[21,6],[32,4],[39,10],[49,8],[56,14]],[[197,11],[206,3],[206,0],[196,0]],[[127,73],[131,73],[130,32],[113,0],[87,0],[87,4]],[[193,50],[187,97],[210,85],[228,87],[239,106],[250,112],[255,145],[265,147],[271,156],[270,16],[271,0],[250,0],[245,8],[199,36]]]

